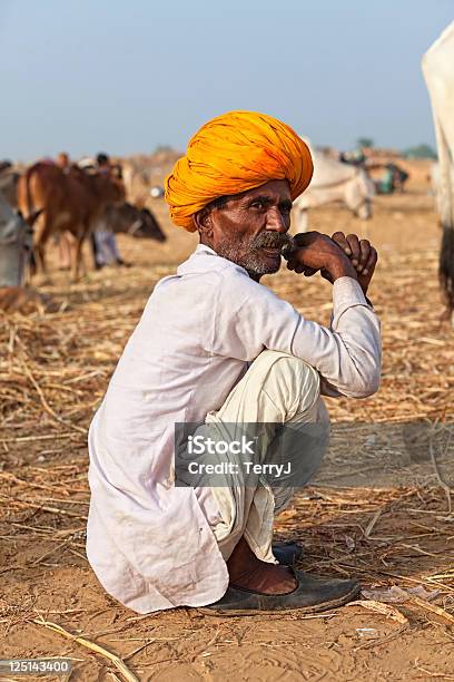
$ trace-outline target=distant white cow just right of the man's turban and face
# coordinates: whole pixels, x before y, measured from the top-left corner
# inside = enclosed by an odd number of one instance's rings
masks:
[[[305,140],[307,143],[307,140]],[[294,202],[293,225],[296,232],[308,228],[307,212],[330,202],[342,202],[363,221],[372,217],[375,186],[363,168],[342,164],[310,148],[314,176],[309,187]]]

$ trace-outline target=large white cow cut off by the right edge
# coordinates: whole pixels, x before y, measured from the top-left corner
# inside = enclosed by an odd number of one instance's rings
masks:
[[[431,97],[438,152],[436,206],[443,226],[440,277],[454,310],[454,21],[430,47],[422,68]],[[454,319],[453,319],[454,321]]]

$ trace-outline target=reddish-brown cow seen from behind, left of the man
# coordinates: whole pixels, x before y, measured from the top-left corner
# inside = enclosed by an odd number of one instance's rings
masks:
[[[68,231],[76,240],[72,275],[78,280],[83,240],[106,206],[124,198],[124,184],[111,174],[87,173],[77,166],[63,170],[51,162],[31,166],[19,181],[18,203],[26,218],[42,210],[33,237],[37,266],[47,274],[46,244],[52,234]]]

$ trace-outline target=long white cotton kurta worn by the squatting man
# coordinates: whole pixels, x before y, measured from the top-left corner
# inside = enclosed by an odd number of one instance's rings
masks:
[[[125,348],[89,432],[87,555],[138,613],[210,604],[227,588],[195,490],[170,483],[174,428],[218,410],[264,349],[302,358],[345,396],[379,383],[379,323],[355,280],[334,283],[327,329],[203,245],[156,285]]]

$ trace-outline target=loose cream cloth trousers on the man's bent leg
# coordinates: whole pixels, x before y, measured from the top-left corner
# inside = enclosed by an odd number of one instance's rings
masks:
[[[304,429],[307,431],[307,426],[303,425],[320,427],[322,437],[315,445],[314,441],[306,448],[299,445],[298,458],[303,458],[303,470],[299,471],[298,487],[306,484],[318,469],[328,439],[329,418],[320,398],[318,372],[287,353],[263,351],[223,407],[207,415],[201,428],[225,438],[224,427],[227,425],[227,437],[231,438],[235,436],[231,433],[235,426],[231,425],[239,425],[239,433],[244,423],[249,425],[249,435],[250,425],[257,427],[261,446],[255,456],[258,462],[273,461],[278,446],[282,452],[287,442],[294,449],[298,442],[304,442],[304,438],[298,440],[298,428],[302,432]],[[285,437],[288,431],[292,431],[292,437],[279,444],[283,426],[286,427]],[[235,456],[230,455],[230,460],[235,461]],[[255,487],[249,487],[244,485],[241,477],[231,475],[226,476],[225,485],[219,487],[210,486],[208,478],[206,483],[201,480],[196,495],[226,561],[244,536],[259,559],[276,563],[272,553],[273,520],[289,503],[294,490],[295,487],[288,485],[272,488],[261,477]]]

